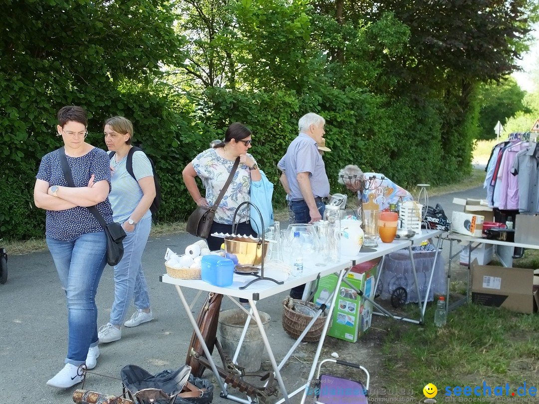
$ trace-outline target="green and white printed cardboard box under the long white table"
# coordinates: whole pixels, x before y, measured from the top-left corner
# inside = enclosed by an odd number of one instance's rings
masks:
[[[373,298],[377,268],[377,261],[357,264],[352,268],[346,279],[357,290],[361,290],[365,296]],[[322,301],[325,301],[329,296],[329,292],[335,289],[336,284],[336,275],[331,274],[322,277],[314,295],[315,303],[322,304]],[[363,335],[370,327],[372,303],[365,301],[363,297],[344,282],[341,283],[341,287],[337,292],[338,296],[333,308],[333,318],[331,319],[328,335],[345,341],[356,342],[358,335]]]

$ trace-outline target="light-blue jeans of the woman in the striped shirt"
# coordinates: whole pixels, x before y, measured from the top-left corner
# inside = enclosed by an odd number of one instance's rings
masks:
[[[110,311],[110,324],[122,325],[135,297],[137,309],[150,307],[148,284],[142,271],[142,253],[150,235],[151,216],[140,220],[133,232],[123,239],[123,257],[114,267],[114,303]]]

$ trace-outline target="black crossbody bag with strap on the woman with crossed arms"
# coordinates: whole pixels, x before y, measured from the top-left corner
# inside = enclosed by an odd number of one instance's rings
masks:
[[[62,167],[62,172],[64,173],[64,178],[67,182],[67,185],[74,188],[75,183],[73,182],[73,175],[69,164],[67,163],[66,152],[64,147],[59,149],[60,155],[60,165]],[[123,257],[123,239],[126,237],[126,232],[123,230],[121,224],[112,222],[107,225],[105,219],[101,213],[99,213],[98,208],[95,206],[88,206],[88,210],[94,215],[94,217],[99,221],[99,224],[105,230],[107,235],[107,263],[114,267],[117,265]]]

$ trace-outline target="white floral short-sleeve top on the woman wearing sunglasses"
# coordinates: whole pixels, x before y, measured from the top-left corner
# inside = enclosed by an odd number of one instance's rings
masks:
[[[250,154],[247,156],[254,161]],[[216,149],[208,149],[196,156],[191,164],[206,188],[206,201],[210,206],[213,205],[229,178],[234,162],[219,156]],[[251,172],[246,164],[239,163],[234,178],[232,178],[215,212],[214,220],[223,225],[231,225],[236,208],[241,203],[250,200],[250,191]],[[247,220],[248,207],[248,205],[244,205],[241,208],[241,211],[236,215],[236,223]]]

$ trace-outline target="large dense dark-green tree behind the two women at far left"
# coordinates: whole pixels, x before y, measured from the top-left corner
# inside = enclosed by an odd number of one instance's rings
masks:
[[[39,159],[59,147],[60,107],[85,107],[89,140],[99,146],[102,137],[94,134],[112,115],[133,119],[139,138],[162,126],[159,144],[172,143],[177,117],[165,111],[168,101],[156,94],[162,88],[155,82],[179,39],[165,0],[0,0],[0,6],[0,206],[7,207],[0,231],[19,239],[43,234],[32,189]]]

